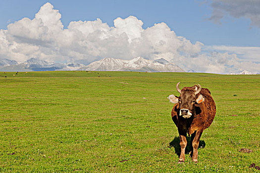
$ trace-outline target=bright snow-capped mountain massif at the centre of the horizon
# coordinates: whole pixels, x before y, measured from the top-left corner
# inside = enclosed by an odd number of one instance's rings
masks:
[[[139,72],[185,72],[177,65],[161,58],[155,61],[142,57],[131,60],[104,58],[79,70],[89,71],[139,71]]]

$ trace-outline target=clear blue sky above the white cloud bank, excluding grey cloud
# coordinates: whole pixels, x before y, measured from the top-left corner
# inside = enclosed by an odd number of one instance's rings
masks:
[[[78,20],[100,18],[109,26],[117,17],[136,16],[144,28],[165,22],[177,35],[207,45],[260,46],[260,27],[250,19],[225,16],[221,24],[208,20],[210,3],[199,0],[1,0],[0,29],[23,17],[34,18],[40,7],[51,2],[61,13],[64,27]]]

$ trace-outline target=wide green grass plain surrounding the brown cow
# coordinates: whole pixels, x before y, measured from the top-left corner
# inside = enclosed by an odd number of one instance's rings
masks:
[[[253,173],[249,166],[260,166],[260,75],[13,74],[0,72],[0,173]],[[207,87],[216,102],[198,164],[188,154],[177,164],[167,100],[179,95],[177,82]]]

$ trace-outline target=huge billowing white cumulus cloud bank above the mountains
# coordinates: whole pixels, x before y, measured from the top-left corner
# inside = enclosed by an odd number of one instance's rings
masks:
[[[105,57],[142,56],[152,60],[164,58],[185,70],[212,73],[236,72],[243,65],[255,65],[240,61],[235,52],[203,53],[203,43],[176,36],[165,23],[144,29],[143,21],[129,16],[116,18],[111,27],[97,19],[72,21],[64,28],[60,18],[59,11],[48,2],[35,18],[23,18],[9,24],[7,30],[0,30],[0,59],[24,61],[35,57],[52,62],[89,63]]]

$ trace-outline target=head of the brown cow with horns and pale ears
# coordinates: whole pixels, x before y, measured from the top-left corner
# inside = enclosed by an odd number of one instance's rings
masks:
[[[201,87],[198,88],[197,86],[193,86],[180,90],[178,83],[176,88],[180,92],[180,96],[177,97],[175,95],[169,95],[168,98],[170,102],[179,104],[179,116],[183,118],[190,118],[194,115],[195,104],[200,104],[204,101],[204,97],[201,94],[198,95],[201,91]]]

